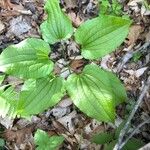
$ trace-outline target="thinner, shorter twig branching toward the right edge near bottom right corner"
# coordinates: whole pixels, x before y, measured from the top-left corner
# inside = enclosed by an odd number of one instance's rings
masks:
[[[150,123],[150,119],[142,122],[140,125],[138,125],[133,131],[132,133],[126,138],[126,140],[120,145],[120,149],[122,149],[122,147],[133,137],[133,135],[145,124]]]

